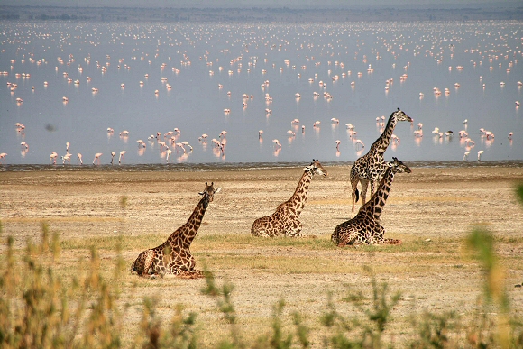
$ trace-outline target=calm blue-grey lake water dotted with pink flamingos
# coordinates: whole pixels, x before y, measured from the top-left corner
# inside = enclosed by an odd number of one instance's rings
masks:
[[[107,165],[111,152],[117,164],[122,151],[126,165],[164,164],[160,142],[174,164],[351,162],[381,134],[381,116],[386,124],[398,107],[414,123],[396,126],[400,142],[388,159],[462,161],[469,152],[477,161],[482,151],[482,161],[523,160],[518,22],[0,28],[0,153],[7,153],[0,160],[7,164],[49,164],[57,152],[61,165],[67,142],[73,165],[77,153],[87,165],[102,153]],[[198,140],[204,133],[206,142]],[[181,144],[185,152],[176,146],[182,142],[190,145]]]

